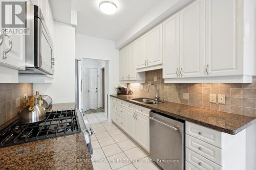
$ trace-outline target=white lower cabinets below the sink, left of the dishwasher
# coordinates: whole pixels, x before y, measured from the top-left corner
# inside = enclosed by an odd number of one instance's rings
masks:
[[[150,109],[111,98],[111,119],[150,153]]]

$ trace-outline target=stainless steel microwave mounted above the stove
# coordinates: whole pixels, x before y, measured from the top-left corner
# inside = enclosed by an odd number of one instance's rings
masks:
[[[53,41],[40,8],[26,4],[27,26],[26,35],[26,70],[19,74],[54,74]]]

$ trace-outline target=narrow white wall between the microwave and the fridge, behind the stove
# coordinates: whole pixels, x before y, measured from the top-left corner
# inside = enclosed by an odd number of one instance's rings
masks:
[[[65,36],[63,36],[65,35]],[[53,103],[75,102],[75,28],[54,23],[54,79],[51,84],[34,83],[34,93],[47,94]]]

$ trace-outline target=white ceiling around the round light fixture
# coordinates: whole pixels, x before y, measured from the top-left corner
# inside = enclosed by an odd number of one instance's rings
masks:
[[[50,0],[54,20],[70,23],[70,10],[78,12],[78,34],[117,40],[160,0],[115,0],[114,15],[99,10],[101,0]]]

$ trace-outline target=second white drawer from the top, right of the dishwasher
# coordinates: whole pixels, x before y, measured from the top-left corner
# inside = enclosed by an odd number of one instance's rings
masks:
[[[186,134],[186,147],[205,158],[222,165],[220,148]]]

